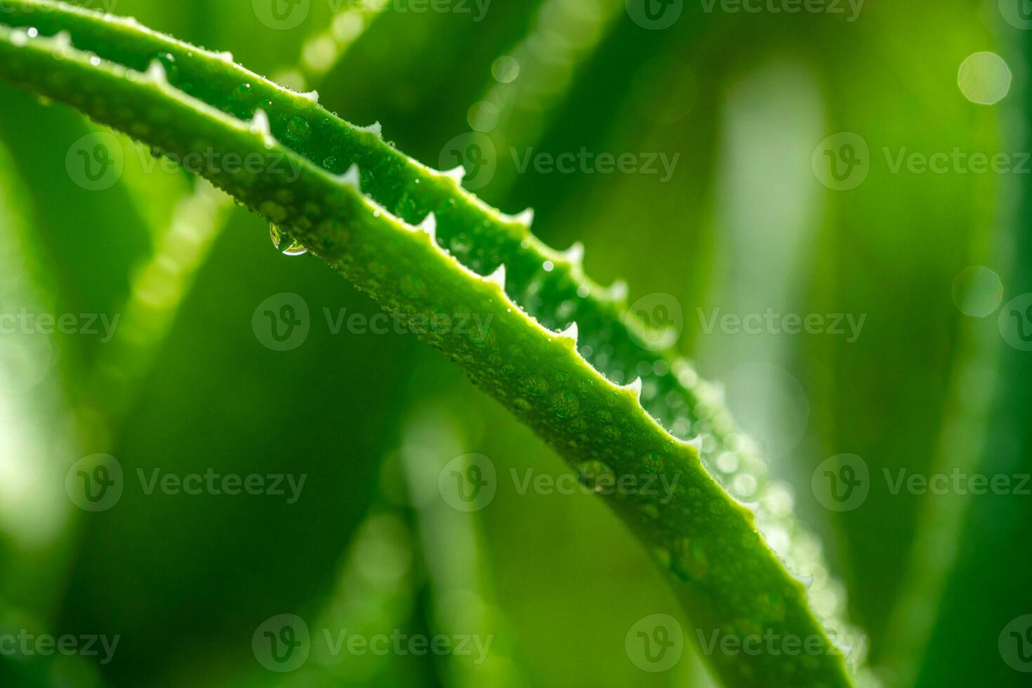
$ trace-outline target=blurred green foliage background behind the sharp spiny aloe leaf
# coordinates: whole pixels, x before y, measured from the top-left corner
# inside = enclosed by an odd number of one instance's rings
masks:
[[[674,298],[676,346],[793,488],[884,685],[1028,685],[1032,662],[1001,633],[1032,624],[1032,496],[894,494],[883,477],[1032,471],[1032,353],[1009,326],[1032,305],[1026,0],[674,0],[655,21],[638,0],[301,0],[278,5],[289,26],[267,0],[77,4],[317,88],[428,165],[457,149],[480,169],[484,153],[483,198],[534,206],[538,235],[583,241],[588,272],[626,280],[632,303]],[[775,11],[795,6],[824,10]],[[965,63],[983,52],[1000,60]],[[110,341],[0,335],[0,634],[120,643],[106,663],[0,647],[3,685],[713,685],[694,650],[664,673],[631,660],[639,619],[673,614],[694,645],[690,620],[602,500],[508,480],[567,471],[542,441],[414,337],[333,333],[324,309],[376,305],[129,139],[117,182],[87,188],[75,152],[112,140],[97,132],[0,86],[0,314],[120,317]],[[832,188],[825,151],[857,137],[866,176]],[[520,170],[531,150],[679,158],[664,182]],[[1012,168],[894,168],[955,150]],[[252,327],[281,293],[311,313],[288,352]],[[866,320],[854,341],[704,327],[714,308],[768,307]],[[126,489],[89,513],[65,478],[98,453]],[[470,453],[502,478],[488,507],[462,513],[438,476]],[[842,513],[811,489],[839,454],[871,477]],[[295,503],[149,495],[135,476],[155,468],[308,478]],[[289,674],[252,649],[282,614],[313,637]],[[334,655],[324,629],[492,645],[479,663]]]

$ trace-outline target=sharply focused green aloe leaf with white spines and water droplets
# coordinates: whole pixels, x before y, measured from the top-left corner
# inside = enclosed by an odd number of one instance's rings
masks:
[[[531,212],[486,205],[462,189],[461,168],[428,168],[385,142],[378,125],[351,125],[322,108],[318,94],[279,87],[228,54],[47,0],[8,4],[4,78],[156,154],[261,160],[261,172],[195,171],[408,320],[586,484],[610,492],[617,477],[655,476],[676,485],[669,501],[647,490],[609,501],[669,569],[699,637],[815,638],[819,648],[711,650],[725,684],[851,685],[832,642],[848,632],[836,618],[842,600],[827,587],[811,605],[797,577],[823,568],[812,538],[718,390],[674,352],[643,346],[650,332],[627,312],[626,288],[591,282],[582,247],[548,248],[530,233]],[[434,325],[433,316],[457,314],[489,326]],[[771,544],[760,529],[775,535]]]

